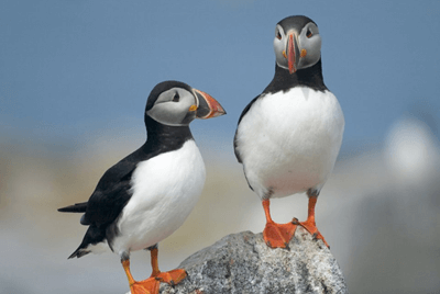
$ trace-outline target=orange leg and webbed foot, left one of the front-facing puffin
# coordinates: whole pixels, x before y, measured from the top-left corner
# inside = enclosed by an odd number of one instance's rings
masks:
[[[263,208],[266,215],[266,227],[263,230],[263,238],[271,248],[286,248],[295,235],[297,224],[277,224],[271,217],[270,200],[263,200]]]

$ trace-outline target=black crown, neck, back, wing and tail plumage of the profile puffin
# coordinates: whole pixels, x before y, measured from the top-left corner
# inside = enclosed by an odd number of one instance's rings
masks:
[[[58,212],[85,213],[80,223],[89,226],[81,244],[69,258],[82,257],[87,252],[81,252],[81,249],[101,242],[106,238],[109,247],[112,248],[112,240],[118,235],[116,220],[132,196],[131,177],[136,165],[161,154],[177,150],[185,142],[193,139],[188,125],[168,126],[146,115],[157,97],[170,87],[180,87],[191,91],[186,83],[182,82],[157,84],[151,92],[145,106],[144,122],[147,131],[145,144],[105,172],[88,202],[58,210]]]

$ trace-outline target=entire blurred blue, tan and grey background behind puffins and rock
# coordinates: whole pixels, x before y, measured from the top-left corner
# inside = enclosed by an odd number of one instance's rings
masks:
[[[191,124],[207,165],[197,207],[160,245],[163,270],[265,218],[233,155],[243,108],[274,75],[275,24],[305,14],[345,114],[317,224],[352,293],[440,293],[439,1],[2,0],[0,293],[125,293],[116,255],[67,260],[86,201],[145,140],[152,88],[182,80],[228,115]],[[307,197],[272,202],[305,219]],[[151,273],[134,252],[135,279]]]

